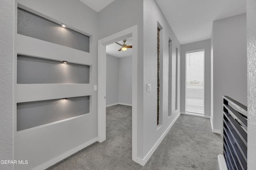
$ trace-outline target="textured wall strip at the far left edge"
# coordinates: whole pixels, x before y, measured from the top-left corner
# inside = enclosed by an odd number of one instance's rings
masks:
[[[0,1],[0,23],[0,160],[12,160],[14,0]],[[0,164],[0,169],[12,165]]]

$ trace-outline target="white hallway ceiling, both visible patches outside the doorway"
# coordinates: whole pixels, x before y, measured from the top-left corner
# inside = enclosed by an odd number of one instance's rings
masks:
[[[99,12],[114,0],[80,0]],[[246,12],[246,0],[156,0],[181,44],[210,39],[212,21]]]

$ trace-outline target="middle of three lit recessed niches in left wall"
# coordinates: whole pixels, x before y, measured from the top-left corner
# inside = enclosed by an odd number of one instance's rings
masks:
[[[90,66],[17,56],[17,84],[88,84]]]

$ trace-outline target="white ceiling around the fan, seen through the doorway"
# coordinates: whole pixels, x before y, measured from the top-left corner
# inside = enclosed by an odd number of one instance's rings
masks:
[[[118,43],[123,44],[123,41],[118,41]],[[126,39],[126,45],[132,45],[132,38]],[[132,55],[132,48],[128,48],[126,51],[118,51],[121,48],[120,45],[113,43],[106,46],[106,53],[114,57],[126,57]]]

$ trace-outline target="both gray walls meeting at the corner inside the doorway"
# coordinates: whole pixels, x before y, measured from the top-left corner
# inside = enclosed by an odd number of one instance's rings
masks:
[[[106,105],[132,105],[132,56],[106,57]]]

